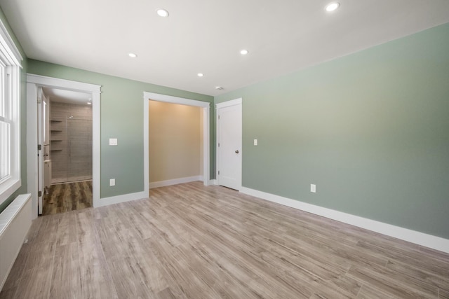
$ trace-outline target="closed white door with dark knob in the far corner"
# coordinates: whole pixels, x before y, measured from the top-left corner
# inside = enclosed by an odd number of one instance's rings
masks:
[[[241,99],[217,104],[217,181],[241,188]]]

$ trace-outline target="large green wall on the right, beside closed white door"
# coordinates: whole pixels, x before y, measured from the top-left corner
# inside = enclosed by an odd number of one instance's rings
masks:
[[[449,239],[449,24],[239,97],[243,186]]]

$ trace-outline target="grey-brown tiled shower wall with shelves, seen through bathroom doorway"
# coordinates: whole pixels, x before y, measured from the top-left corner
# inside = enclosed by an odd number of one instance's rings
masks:
[[[51,102],[52,183],[92,179],[92,106]]]

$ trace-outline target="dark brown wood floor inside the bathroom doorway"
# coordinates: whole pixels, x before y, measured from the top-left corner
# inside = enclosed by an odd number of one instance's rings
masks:
[[[43,196],[42,215],[92,207],[92,181],[58,183]]]

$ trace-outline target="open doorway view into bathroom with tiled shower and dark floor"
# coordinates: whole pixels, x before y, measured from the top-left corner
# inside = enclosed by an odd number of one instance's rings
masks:
[[[48,102],[42,215],[92,207],[91,94],[42,88]]]

